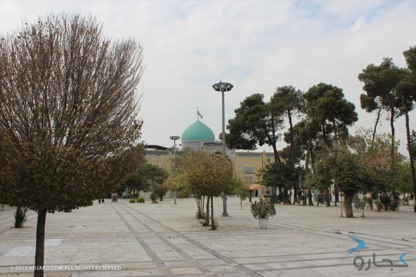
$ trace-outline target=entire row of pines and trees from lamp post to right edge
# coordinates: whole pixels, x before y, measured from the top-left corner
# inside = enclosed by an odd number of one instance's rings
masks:
[[[227,145],[230,148],[244,150],[254,150],[258,145],[272,147],[275,159],[263,168],[260,177],[263,185],[274,188],[273,201],[277,201],[277,190],[279,198],[284,201],[290,201],[288,193],[293,190],[293,198],[296,201],[300,195],[302,177],[308,185],[306,195],[309,204],[313,204],[311,189],[319,188],[323,191],[324,201],[329,206],[331,184],[334,188],[335,204],[339,202],[340,188],[347,191],[343,183],[345,180],[340,179],[343,178],[341,171],[336,170],[336,164],[341,163],[338,158],[347,159],[346,149],[361,156],[374,151],[376,127],[381,115],[388,111],[391,127],[390,148],[383,150],[389,154],[389,174],[395,175],[400,171],[400,167],[408,168],[413,193],[416,194],[415,156],[414,150],[412,151],[415,145],[412,143],[408,116],[416,101],[416,47],[410,47],[404,52],[404,56],[407,68],[399,68],[391,59],[385,58],[379,66],[370,64],[358,75],[358,79],[364,82],[363,89],[366,92],[361,95],[361,107],[369,112],[376,111],[375,125],[370,131],[370,142],[365,140],[369,143],[365,150],[354,150],[346,146],[349,145],[350,139],[348,127],[358,120],[354,104],[345,99],[342,89],[324,83],[316,84],[306,92],[292,86],[278,87],[268,102],[260,93],[248,96],[241,102],[240,107],[235,109],[236,116],[228,122],[229,133],[225,138]],[[399,158],[398,142],[395,140],[395,119],[402,115],[406,119],[408,162]],[[288,129],[281,134],[285,123]],[[277,150],[279,139],[284,139],[288,144],[283,150]],[[381,138],[379,140],[383,141]],[[340,153],[343,156],[339,157]],[[365,163],[363,166],[369,167]],[[376,183],[374,186],[367,190],[380,191],[381,184]],[[389,187],[392,186],[383,186],[383,193],[388,193]]]

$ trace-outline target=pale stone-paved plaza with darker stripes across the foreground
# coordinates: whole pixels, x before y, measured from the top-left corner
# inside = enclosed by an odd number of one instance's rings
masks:
[[[416,276],[416,215],[365,211],[340,217],[339,207],[276,205],[268,229],[259,229],[250,204],[231,198],[231,216],[217,216],[217,231],[200,226],[193,199],[159,204],[117,203],[46,217],[46,276]],[[216,215],[222,202],[214,199]],[[12,226],[13,210],[0,211],[0,276],[33,276],[36,215],[23,229]],[[367,251],[347,254],[361,239]],[[384,266],[389,259],[393,265]],[[361,256],[358,271],[353,260]],[[368,260],[376,259],[376,266]],[[102,270],[96,269],[102,266]],[[59,269],[59,266],[67,266]],[[78,270],[76,270],[78,268]],[[106,270],[107,269],[107,270]],[[367,270],[365,270],[367,269]]]

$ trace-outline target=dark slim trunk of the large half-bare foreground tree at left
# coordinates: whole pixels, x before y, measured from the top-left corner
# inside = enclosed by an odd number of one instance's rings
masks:
[[[43,277],[44,271],[44,252],[45,252],[45,222],[46,210],[37,212],[36,225],[36,251],[35,251],[35,271],[34,277]]]

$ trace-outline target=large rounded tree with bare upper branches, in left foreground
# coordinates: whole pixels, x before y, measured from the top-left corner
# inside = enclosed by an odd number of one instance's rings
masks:
[[[91,205],[103,181],[135,168],[116,161],[141,150],[142,71],[142,46],[112,41],[91,17],[52,15],[1,36],[0,202],[37,211],[35,266],[46,212]]]

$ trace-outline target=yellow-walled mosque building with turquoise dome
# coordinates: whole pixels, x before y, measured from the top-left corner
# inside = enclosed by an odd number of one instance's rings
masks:
[[[223,142],[216,141],[214,132],[200,120],[196,120],[184,130],[180,141],[182,142],[182,150],[191,148],[216,154],[223,153]],[[145,148],[145,159],[148,163],[171,172],[173,169],[173,148],[165,148],[160,145],[146,145]],[[180,154],[180,151],[181,149],[177,150],[176,154]],[[271,188],[259,185],[257,172],[273,161],[274,154],[272,152],[236,151],[226,148],[225,153],[234,163],[235,175],[250,185],[253,196],[268,197],[271,195]]]

